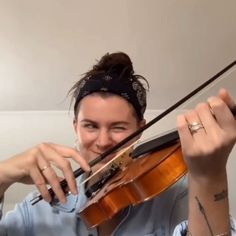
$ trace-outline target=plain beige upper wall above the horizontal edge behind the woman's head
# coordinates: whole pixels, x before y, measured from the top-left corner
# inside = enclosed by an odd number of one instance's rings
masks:
[[[235,60],[235,9],[235,0],[0,0],[0,110],[68,109],[78,75],[114,51],[148,78],[148,108],[165,109]]]

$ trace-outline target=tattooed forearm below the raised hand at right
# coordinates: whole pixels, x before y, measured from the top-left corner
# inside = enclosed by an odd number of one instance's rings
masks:
[[[189,176],[189,235],[230,235],[226,173],[211,180]]]

